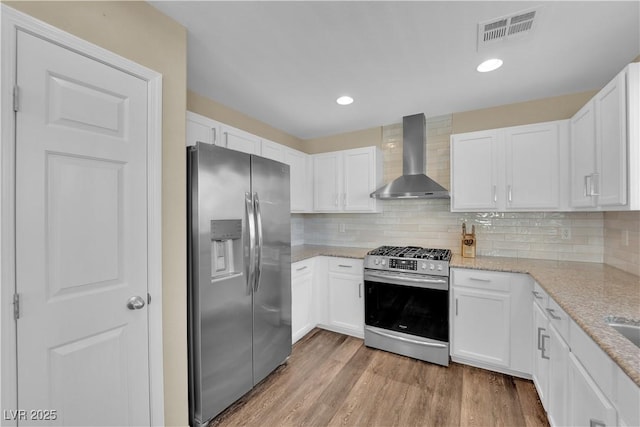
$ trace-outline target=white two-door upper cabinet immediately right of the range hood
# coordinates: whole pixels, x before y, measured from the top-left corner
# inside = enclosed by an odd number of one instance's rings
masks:
[[[558,210],[568,122],[451,136],[451,210]]]

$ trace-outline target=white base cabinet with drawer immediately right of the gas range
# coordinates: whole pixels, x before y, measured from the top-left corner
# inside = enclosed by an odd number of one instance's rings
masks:
[[[451,269],[451,358],[529,377],[531,283],[523,274]]]

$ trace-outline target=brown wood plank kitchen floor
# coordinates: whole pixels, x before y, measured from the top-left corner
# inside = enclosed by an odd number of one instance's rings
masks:
[[[314,329],[209,427],[547,425],[531,381],[445,368]]]

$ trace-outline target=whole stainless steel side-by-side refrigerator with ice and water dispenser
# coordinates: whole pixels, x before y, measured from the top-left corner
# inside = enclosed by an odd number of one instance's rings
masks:
[[[291,354],[289,166],[187,151],[190,422],[200,426]]]

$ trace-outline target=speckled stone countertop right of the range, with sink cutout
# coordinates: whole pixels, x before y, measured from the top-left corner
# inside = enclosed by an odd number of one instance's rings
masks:
[[[528,273],[640,386],[640,349],[604,322],[640,320],[640,277],[606,264],[454,255],[450,267]]]

